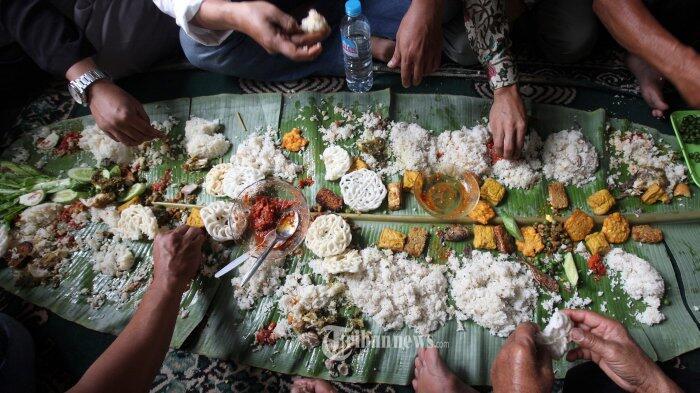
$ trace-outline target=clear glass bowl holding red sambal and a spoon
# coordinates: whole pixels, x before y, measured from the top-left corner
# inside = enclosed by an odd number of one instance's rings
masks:
[[[298,188],[277,179],[259,180],[246,187],[240,193],[238,198],[234,200],[234,205],[243,208],[248,217],[248,228],[243,235],[242,243],[247,244],[247,248],[252,256],[257,256],[258,253],[265,249],[265,246],[274,241],[275,226],[277,224],[275,220],[275,223],[271,224],[270,229],[254,230],[251,212],[255,201],[259,197],[269,197],[290,202],[289,207],[280,209],[280,214],[276,217],[277,220],[288,211],[295,211],[299,215],[299,226],[294,235],[282,245],[276,246],[268,256],[271,259],[284,258],[301,245],[306,237],[306,231],[309,229],[310,214],[306,198],[304,198],[304,195]],[[234,208],[236,207],[234,206]],[[229,225],[232,225],[231,221],[229,221]]]

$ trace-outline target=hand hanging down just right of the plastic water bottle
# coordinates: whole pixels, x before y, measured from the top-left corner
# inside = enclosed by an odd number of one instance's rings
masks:
[[[427,4],[430,3],[430,4]],[[396,33],[389,68],[401,68],[404,87],[417,86],[440,66],[442,58],[442,1],[412,1]]]

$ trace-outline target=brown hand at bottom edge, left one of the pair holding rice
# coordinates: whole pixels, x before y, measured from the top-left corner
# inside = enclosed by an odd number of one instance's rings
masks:
[[[491,367],[494,392],[551,392],[554,383],[552,358],[538,350],[537,325],[521,323],[508,337]]]

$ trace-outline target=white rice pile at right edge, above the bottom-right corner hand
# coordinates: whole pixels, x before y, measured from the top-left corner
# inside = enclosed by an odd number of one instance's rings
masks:
[[[610,270],[614,287],[622,286],[629,297],[642,300],[646,305],[644,311],[635,314],[637,321],[654,325],[666,319],[659,310],[664,295],[664,280],[649,262],[615,248],[605,256],[605,265]]]

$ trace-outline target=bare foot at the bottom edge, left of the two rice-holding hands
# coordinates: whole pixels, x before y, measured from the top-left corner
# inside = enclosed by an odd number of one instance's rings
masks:
[[[412,384],[418,393],[476,393],[450,371],[437,348],[418,348],[414,364]]]

